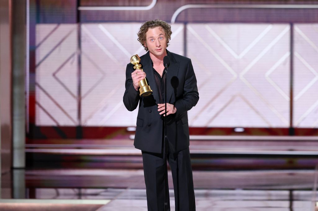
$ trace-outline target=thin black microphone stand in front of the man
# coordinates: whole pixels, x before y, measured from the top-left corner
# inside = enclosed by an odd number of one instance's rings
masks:
[[[164,83],[164,106],[165,106],[165,118],[164,118],[164,211],[167,210],[168,202],[167,202],[167,175],[168,175],[168,169],[167,169],[167,69],[168,64],[165,64],[165,83]],[[167,173],[166,173],[167,171]],[[168,194],[169,194],[169,188],[168,188]]]

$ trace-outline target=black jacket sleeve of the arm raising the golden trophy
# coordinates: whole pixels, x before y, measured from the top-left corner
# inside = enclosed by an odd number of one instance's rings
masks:
[[[139,92],[135,90],[133,80],[131,78],[131,73],[133,70],[134,69],[132,65],[128,64],[126,67],[126,89],[123,97],[124,105],[128,111],[134,111],[137,108],[140,100]]]

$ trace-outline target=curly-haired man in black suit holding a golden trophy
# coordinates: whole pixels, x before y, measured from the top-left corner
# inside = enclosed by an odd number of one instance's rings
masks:
[[[134,70],[134,65],[130,63],[127,65],[123,101],[129,111],[135,110],[139,104],[134,145],[142,150],[148,210],[164,210],[167,159],[172,172],[176,210],[193,211],[195,198],[187,111],[197,104],[199,93],[191,60],[166,50],[171,33],[171,26],[158,19],[142,24],[138,41],[148,51],[140,57],[144,72]],[[170,59],[167,75],[163,65],[166,55]],[[167,117],[164,104],[165,77]],[[138,82],[144,78],[148,80],[153,94],[142,98],[139,96]],[[167,118],[167,142],[164,138],[164,118]],[[169,192],[166,194],[167,210],[170,210]]]

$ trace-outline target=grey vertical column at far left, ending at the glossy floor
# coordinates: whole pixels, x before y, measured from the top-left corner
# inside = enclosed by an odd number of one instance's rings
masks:
[[[26,2],[12,2],[12,153],[13,168],[25,167]]]

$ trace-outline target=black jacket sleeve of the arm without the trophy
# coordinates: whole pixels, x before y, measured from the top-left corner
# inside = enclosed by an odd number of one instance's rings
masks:
[[[175,102],[175,107],[177,109],[176,115],[189,111],[193,106],[197,105],[198,100],[197,78],[194,74],[191,60],[189,59],[188,68],[185,73],[183,96]]]

